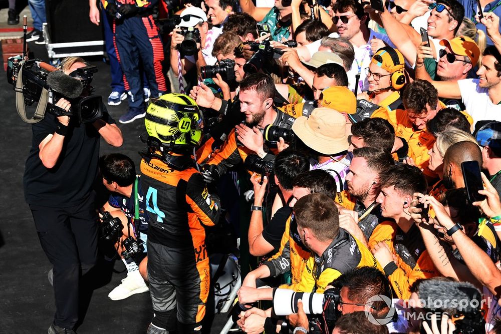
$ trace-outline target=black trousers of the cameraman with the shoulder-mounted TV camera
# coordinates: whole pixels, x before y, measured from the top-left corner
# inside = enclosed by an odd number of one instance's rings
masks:
[[[68,208],[30,205],[40,244],[54,266],[54,323],[73,328],[78,320],[79,281],[97,261],[94,196]]]

